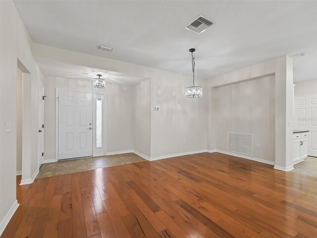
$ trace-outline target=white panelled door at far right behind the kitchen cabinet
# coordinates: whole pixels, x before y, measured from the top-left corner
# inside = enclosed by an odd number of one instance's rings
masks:
[[[308,155],[317,157],[317,95],[295,97],[294,129],[309,130]]]

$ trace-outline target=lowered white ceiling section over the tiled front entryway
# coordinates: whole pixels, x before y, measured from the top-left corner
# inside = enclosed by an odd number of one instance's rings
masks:
[[[97,77],[97,74],[103,75],[102,78],[106,78],[106,82],[110,84],[120,84],[133,86],[144,80],[146,77],[124,74],[113,71],[105,71],[97,68],[90,68],[79,66],[71,63],[35,59],[39,65],[42,73],[47,76],[61,77],[61,78],[72,78],[92,81],[93,78]]]

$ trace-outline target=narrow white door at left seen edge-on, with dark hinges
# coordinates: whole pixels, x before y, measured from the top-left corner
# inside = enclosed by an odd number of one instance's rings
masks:
[[[38,136],[38,158],[39,167],[44,160],[44,86],[39,87],[39,136]]]

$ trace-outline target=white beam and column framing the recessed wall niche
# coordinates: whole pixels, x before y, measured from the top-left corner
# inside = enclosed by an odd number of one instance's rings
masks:
[[[267,60],[249,67],[232,71],[209,79],[209,87],[213,88],[211,99],[214,98],[214,87],[238,82],[250,81],[275,75],[275,169],[290,171],[293,169],[292,160],[292,126],[288,122],[293,120],[293,60],[282,56]],[[210,127],[210,150],[216,148],[216,115],[213,115],[213,101],[209,107],[208,121]]]

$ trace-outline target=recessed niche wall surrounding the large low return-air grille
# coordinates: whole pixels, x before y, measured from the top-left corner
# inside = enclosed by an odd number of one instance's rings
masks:
[[[227,150],[227,133],[253,134],[253,156],[275,161],[274,76],[215,88],[216,149]],[[260,148],[256,144],[260,144]]]

